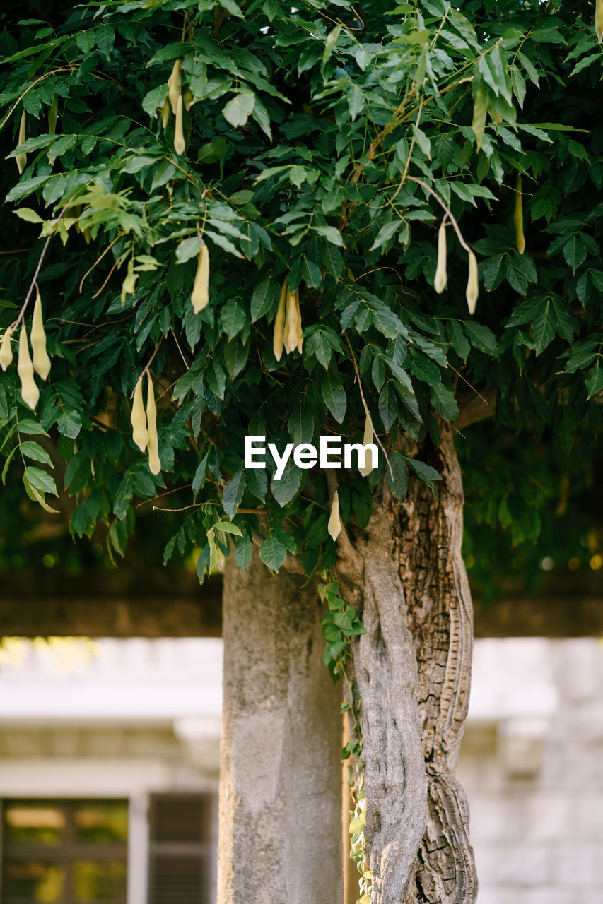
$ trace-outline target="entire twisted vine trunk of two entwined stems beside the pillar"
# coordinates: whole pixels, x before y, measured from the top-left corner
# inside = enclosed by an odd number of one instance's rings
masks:
[[[469,699],[472,607],[461,558],[463,487],[452,428],[409,454],[435,466],[403,504],[383,487],[340,577],[367,630],[353,645],[366,766],[371,904],[473,904],[468,811],[455,766]],[[408,450],[407,450],[408,451]],[[359,564],[360,563],[360,564]]]

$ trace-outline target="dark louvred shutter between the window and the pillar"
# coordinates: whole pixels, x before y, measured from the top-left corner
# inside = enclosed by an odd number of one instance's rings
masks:
[[[148,822],[148,904],[208,904],[215,796],[152,795]]]

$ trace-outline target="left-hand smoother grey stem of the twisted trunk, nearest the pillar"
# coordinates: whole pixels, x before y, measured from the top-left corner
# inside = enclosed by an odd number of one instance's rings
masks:
[[[367,633],[352,645],[362,707],[372,904],[403,899],[427,816],[415,652],[391,550],[391,514],[383,506],[371,519],[362,549]]]

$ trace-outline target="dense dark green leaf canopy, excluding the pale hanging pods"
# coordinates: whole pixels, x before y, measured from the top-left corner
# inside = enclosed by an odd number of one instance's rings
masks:
[[[516,556],[542,521],[551,546],[588,534],[597,551],[588,524],[563,526],[588,489],[603,389],[593,16],[536,0],[5,5],[0,329],[20,312],[29,329],[41,262],[52,359],[35,412],[14,364],[0,373],[5,498],[18,478],[55,507],[64,485],[72,533],[103,523],[121,555],[136,506],[160,496],[182,511],[154,513],[150,531],[169,518],[166,560],[200,550],[201,578],[232,531],[242,567],[255,532],[271,569],[289,550],[310,573],[336,557],[324,473],[245,471],[244,434],[281,448],[360,441],[363,393],[388,463],[337,473],[353,533],[383,476],[398,497],[409,476],[436,488],[399,438],[437,442],[438,418],[456,419],[474,387],[495,413],[459,436],[468,555],[483,523],[499,549],[509,529]],[[164,127],[159,112],[177,60],[180,155],[175,118]],[[479,259],[473,316],[449,216],[447,288],[433,287],[445,210]],[[196,314],[202,241],[210,300]],[[285,278],[303,347],[277,361]],[[131,438],[143,372],[158,395],[158,475]]]

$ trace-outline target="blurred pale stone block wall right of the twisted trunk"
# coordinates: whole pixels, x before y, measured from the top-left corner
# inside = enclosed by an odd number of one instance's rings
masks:
[[[478,904],[603,901],[603,645],[475,644],[458,775]]]

